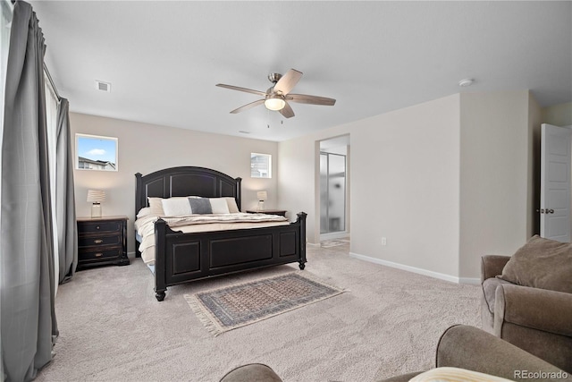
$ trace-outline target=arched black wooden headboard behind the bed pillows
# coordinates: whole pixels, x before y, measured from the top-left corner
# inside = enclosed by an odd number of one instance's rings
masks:
[[[232,178],[205,167],[181,166],[165,168],[155,173],[135,174],[135,214],[147,207],[147,197],[202,196],[203,198],[232,197],[240,209],[241,178]]]

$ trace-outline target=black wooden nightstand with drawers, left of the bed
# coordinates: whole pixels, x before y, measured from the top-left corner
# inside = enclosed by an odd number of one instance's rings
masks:
[[[78,269],[129,265],[127,216],[78,217]]]

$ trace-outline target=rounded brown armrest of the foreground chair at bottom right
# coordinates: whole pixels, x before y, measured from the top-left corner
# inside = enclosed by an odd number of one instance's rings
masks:
[[[522,370],[563,373],[550,363],[501,338],[465,325],[450,327],[442,334],[437,344],[435,366],[469,369],[513,380],[523,377],[518,374]]]

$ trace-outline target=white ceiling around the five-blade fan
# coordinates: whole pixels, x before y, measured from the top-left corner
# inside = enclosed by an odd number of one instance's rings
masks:
[[[89,115],[280,141],[462,91],[572,101],[571,2],[30,3],[59,93]],[[257,96],[214,86],[265,90],[290,68],[293,92],[336,105],[231,115]]]

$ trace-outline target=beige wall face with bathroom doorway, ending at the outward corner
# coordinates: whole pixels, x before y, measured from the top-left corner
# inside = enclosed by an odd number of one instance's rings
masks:
[[[281,142],[281,203],[309,211],[317,242],[319,140],[349,133],[351,251],[457,275],[458,119],[456,95]]]

